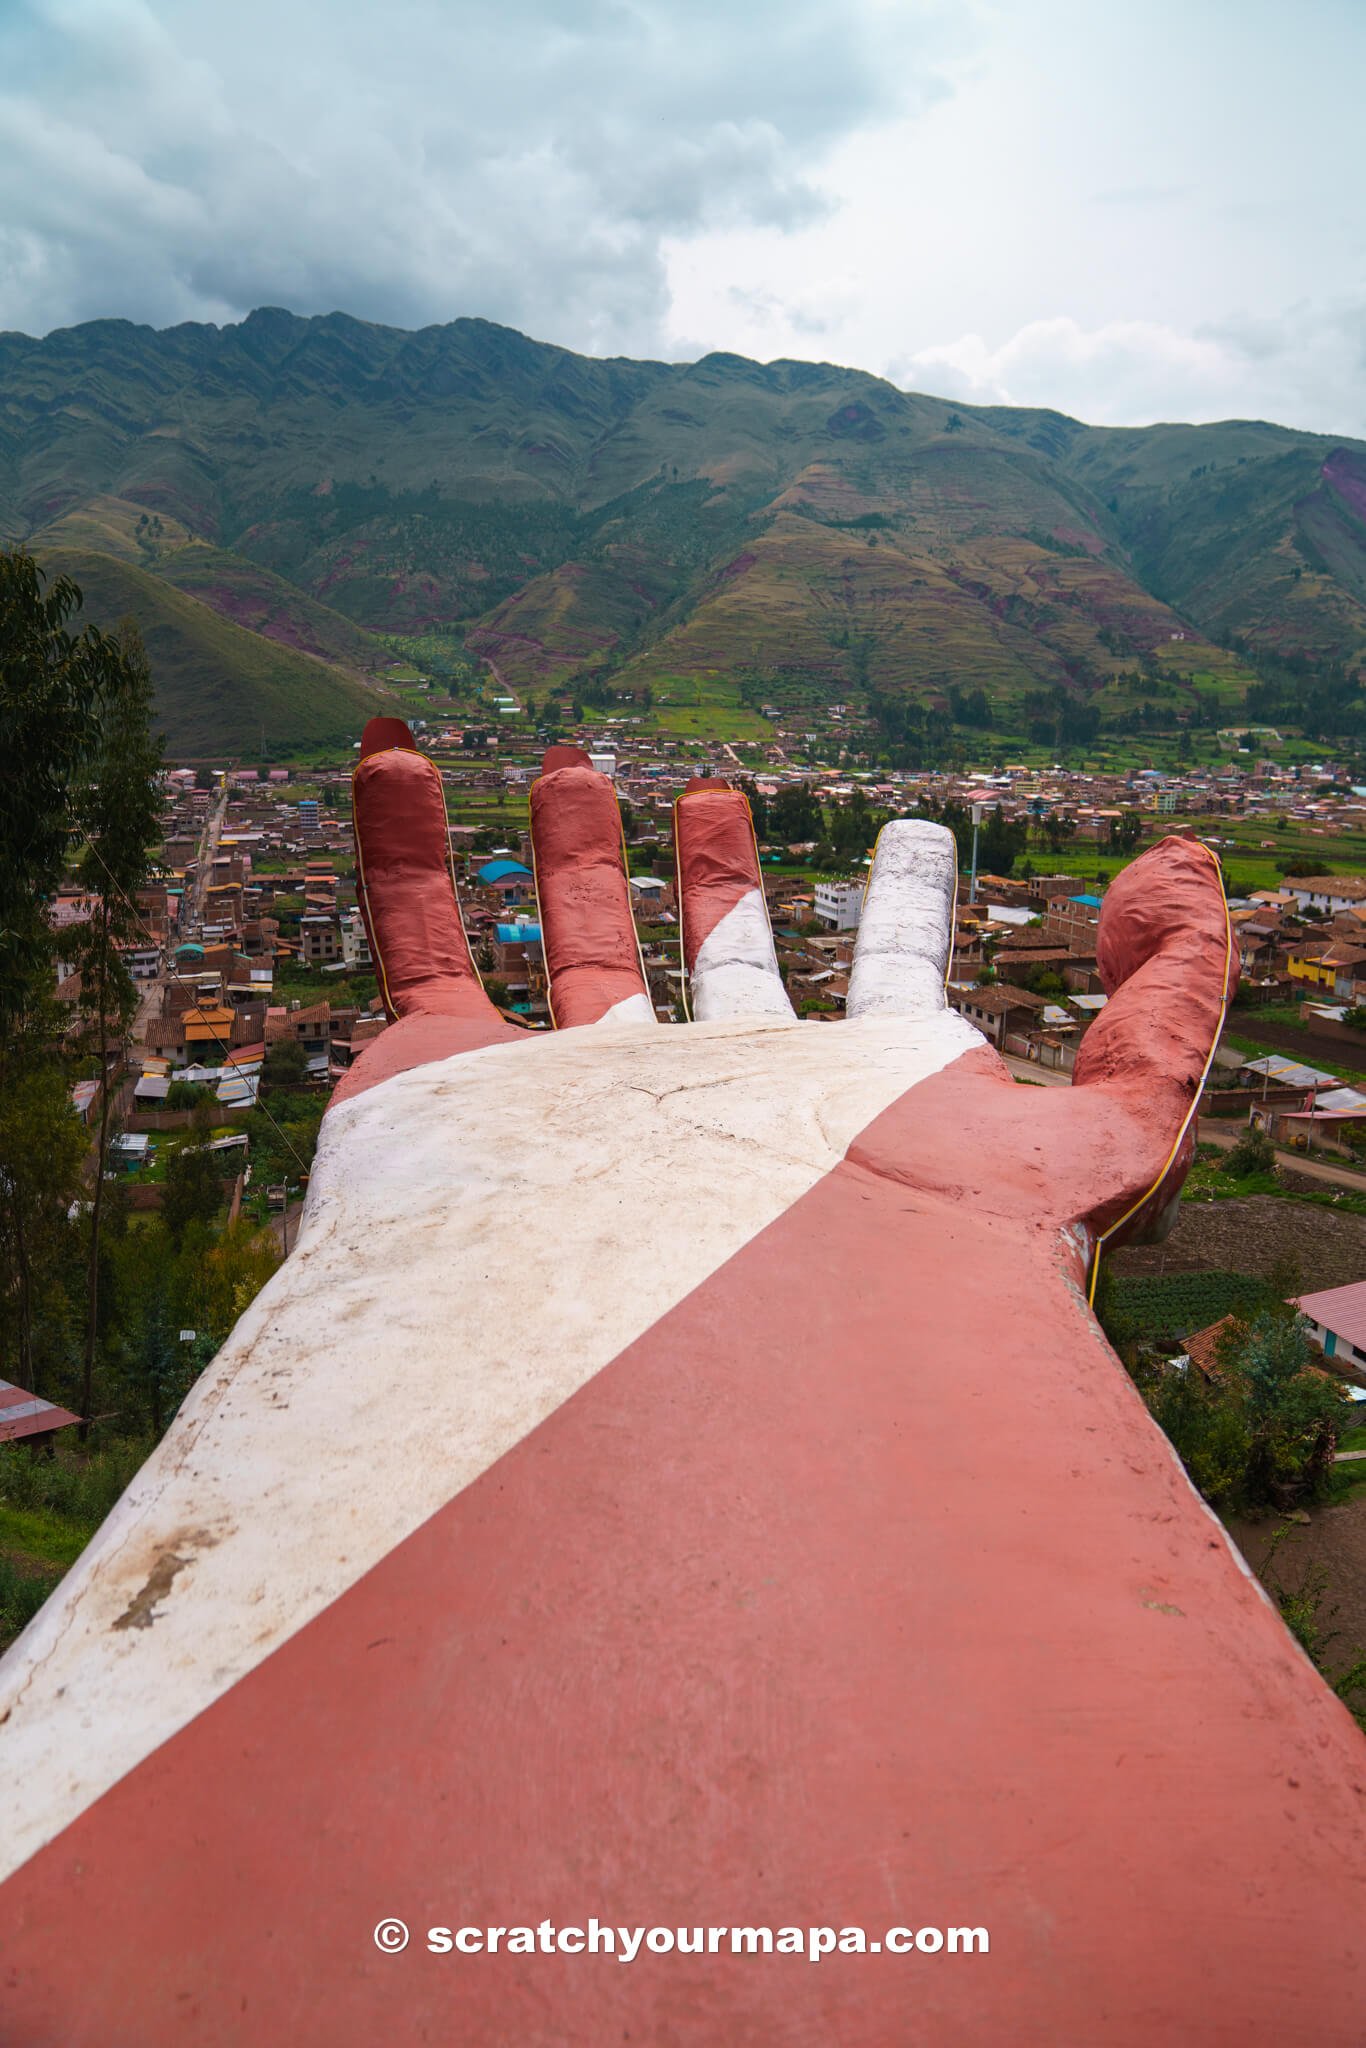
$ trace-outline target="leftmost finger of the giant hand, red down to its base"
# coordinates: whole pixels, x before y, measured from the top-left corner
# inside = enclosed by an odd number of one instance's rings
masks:
[[[356,881],[391,1018],[440,1016],[502,1036],[455,895],[446,801],[401,719],[371,719],[352,776]]]

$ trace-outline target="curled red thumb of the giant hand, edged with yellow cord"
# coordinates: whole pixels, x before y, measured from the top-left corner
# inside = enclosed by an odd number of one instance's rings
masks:
[[[1096,963],[1110,1001],[1081,1040],[1073,1085],[1122,1102],[1163,1159],[1151,1186],[1096,1219],[1106,1241],[1159,1225],[1194,1157],[1200,1090],[1239,975],[1214,854],[1169,838],[1124,868],[1106,895]]]

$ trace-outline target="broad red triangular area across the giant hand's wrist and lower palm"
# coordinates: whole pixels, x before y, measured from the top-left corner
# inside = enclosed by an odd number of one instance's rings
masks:
[[[8,2044],[1360,2042],[1360,1735],[934,1085],[10,1880]],[[422,1948],[590,1915],[991,1956]]]

